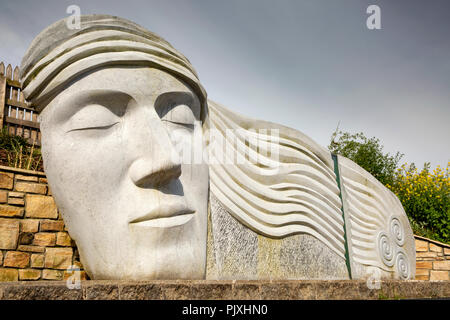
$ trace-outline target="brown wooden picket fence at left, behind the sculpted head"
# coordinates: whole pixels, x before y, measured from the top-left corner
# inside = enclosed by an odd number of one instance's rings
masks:
[[[19,67],[0,63],[0,128],[25,138],[30,144],[41,145],[38,113],[23,97],[19,82]]]

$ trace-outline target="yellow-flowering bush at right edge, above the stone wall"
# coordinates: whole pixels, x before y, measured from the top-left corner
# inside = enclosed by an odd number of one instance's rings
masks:
[[[421,171],[414,164],[402,165],[393,184],[386,185],[400,199],[416,234],[450,242],[450,162],[433,172],[426,163]]]

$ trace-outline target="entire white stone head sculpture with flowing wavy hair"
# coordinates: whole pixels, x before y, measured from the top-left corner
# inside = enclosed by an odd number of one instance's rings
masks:
[[[414,278],[394,194],[299,131],[208,100],[190,62],[139,25],[58,21],[21,70],[91,278]]]

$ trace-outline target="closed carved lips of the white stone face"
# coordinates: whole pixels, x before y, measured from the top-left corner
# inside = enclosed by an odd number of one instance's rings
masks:
[[[148,214],[130,221],[132,226],[169,228],[187,223],[195,211],[185,204],[159,206]]]

